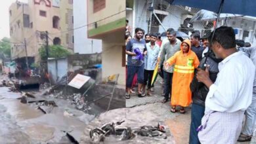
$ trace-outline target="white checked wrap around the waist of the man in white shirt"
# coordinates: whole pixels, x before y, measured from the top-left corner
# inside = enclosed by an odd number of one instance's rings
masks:
[[[244,111],[211,112],[202,118],[198,138],[202,144],[235,144],[242,130]]]

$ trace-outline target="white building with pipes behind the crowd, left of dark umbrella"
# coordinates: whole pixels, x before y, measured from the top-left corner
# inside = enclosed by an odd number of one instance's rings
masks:
[[[175,30],[192,28],[186,22],[198,10],[169,5],[165,0],[127,0],[126,17],[132,27],[133,35],[136,27],[144,29],[146,33],[162,33],[169,27]]]

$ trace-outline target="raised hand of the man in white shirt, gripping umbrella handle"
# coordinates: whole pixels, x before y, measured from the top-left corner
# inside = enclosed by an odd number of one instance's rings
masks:
[[[198,79],[200,82],[203,82],[208,88],[211,86],[211,84],[213,84],[209,78],[209,67],[206,67],[205,71],[203,71],[203,69],[198,69],[198,73],[196,73],[196,79]]]

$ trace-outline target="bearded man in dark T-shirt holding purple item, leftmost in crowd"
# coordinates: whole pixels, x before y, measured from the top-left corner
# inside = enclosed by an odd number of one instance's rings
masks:
[[[133,77],[137,73],[138,78],[138,96],[139,98],[144,97],[142,94],[142,84],[144,83],[144,56],[146,55],[146,42],[143,37],[143,30],[139,27],[135,29],[135,37],[131,39],[126,45],[127,58],[127,81],[126,87],[128,94],[125,98],[129,99],[131,97],[131,85],[133,82]]]

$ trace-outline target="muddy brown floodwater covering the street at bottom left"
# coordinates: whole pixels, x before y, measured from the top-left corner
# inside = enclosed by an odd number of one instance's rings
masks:
[[[51,99],[58,107],[45,114],[35,103],[20,103],[16,98],[21,96],[0,88],[0,143],[73,143],[67,133],[79,141],[85,125],[94,118],[63,99]]]

